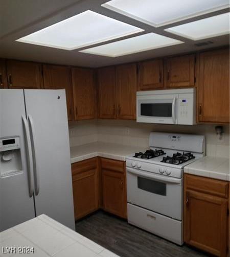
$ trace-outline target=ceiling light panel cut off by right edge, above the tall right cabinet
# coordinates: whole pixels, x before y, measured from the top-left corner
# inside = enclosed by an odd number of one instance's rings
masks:
[[[225,35],[229,33],[229,13],[196,20],[166,29],[165,31],[192,40]]]

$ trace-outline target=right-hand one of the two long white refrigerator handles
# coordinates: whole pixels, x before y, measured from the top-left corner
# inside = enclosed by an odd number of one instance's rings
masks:
[[[39,181],[38,163],[36,158],[35,129],[34,129],[34,122],[31,115],[28,115],[28,120],[29,120],[30,131],[31,131],[31,146],[32,146],[32,153],[33,153],[34,179],[35,179],[35,195],[38,195],[40,190],[40,181]]]

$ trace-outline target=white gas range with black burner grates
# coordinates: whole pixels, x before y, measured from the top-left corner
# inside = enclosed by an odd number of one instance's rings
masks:
[[[204,156],[203,135],[152,132],[126,157],[128,222],[182,245],[183,168]]]

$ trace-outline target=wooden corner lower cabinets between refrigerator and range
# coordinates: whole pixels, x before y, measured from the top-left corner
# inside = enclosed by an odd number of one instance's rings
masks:
[[[127,218],[125,161],[90,158],[72,164],[75,220],[99,208]]]

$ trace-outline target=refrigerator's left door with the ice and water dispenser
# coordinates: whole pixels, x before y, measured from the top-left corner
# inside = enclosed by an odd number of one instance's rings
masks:
[[[5,152],[11,160],[0,152],[0,231],[35,217],[22,116],[26,118],[23,90],[0,89],[0,138],[17,137],[20,142],[20,149]],[[8,173],[15,168],[21,172]]]

